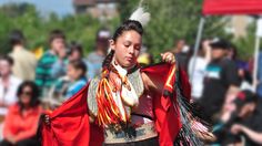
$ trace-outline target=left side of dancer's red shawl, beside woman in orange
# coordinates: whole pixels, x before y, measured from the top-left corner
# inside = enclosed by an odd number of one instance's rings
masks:
[[[103,129],[89,123],[89,85],[63,103],[50,116],[50,126],[41,124],[43,146],[101,146]]]

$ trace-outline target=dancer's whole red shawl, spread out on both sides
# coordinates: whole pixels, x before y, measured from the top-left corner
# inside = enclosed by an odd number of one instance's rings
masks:
[[[173,91],[175,73],[180,75],[182,94],[190,98],[190,84],[185,73],[179,72],[175,65],[157,64],[142,69],[149,77],[159,79],[164,83],[162,95],[153,97],[155,127],[159,133],[161,146],[172,146],[178,136],[181,123],[175,93],[164,94]],[[43,146],[99,146],[103,143],[103,129],[89,124],[88,95],[89,84],[78,94],[62,104],[59,108],[49,113],[50,126],[42,124],[42,145]],[[170,97],[170,95],[172,97]]]

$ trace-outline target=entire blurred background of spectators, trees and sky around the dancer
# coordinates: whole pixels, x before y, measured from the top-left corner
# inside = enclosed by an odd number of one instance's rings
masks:
[[[39,145],[42,111],[57,108],[100,74],[108,40],[139,2],[0,0],[2,145]],[[262,145],[261,54],[252,76],[258,17],[205,17],[193,59],[202,4],[203,0],[144,0],[151,21],[138,62],[147,66],[161,62],[163,52],[175,54],[192,85],[191,104],[216,136],[206,144]]]

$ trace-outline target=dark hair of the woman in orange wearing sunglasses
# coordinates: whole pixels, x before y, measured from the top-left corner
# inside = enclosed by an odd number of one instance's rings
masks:
[[[29,86],[32,90],[31,101],[29,103],[30,107],[34,107],[40,104],[40,101],[39,101],[40,91],[39,91],[38,85],[36,83],[33,83],[32,81],[24,81],[20,84],[20,86],[18,87],[18,92],[17,92],[17,96],[19,98],[18,104],[21,109],[23,109],[24,107],[23,107],[23,104],[21,103],[20,96],[23,92],[23,88],[27,86]]]

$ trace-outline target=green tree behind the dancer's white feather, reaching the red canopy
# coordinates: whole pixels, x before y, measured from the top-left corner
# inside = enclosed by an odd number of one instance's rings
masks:
[[[139,0],[121,3],[122,20],[129,18],[138,3]],[[151,21],[144,28],[144,43],[154,55],[172,49],[179,39],[187,40],[189,44],[194,43],[201,18],[202,0],[144,0],[143,6],[151,13]],[[203,38],[216,35],[230,38],[224,32],[223,25],[221,18],[206,19]]]

